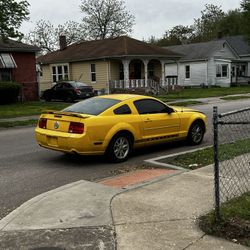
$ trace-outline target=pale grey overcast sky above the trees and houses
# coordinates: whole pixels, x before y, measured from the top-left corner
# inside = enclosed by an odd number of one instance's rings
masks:
[[[30,20],[24,22],[21,31],[28,33],[40,19],[52,24],[63,24],[73,20],[80,22],[81,0],[28,0]],[[175,25],[190,25],[194,18],[201,16],[205,4],[221,6],[224,11],[240,7],[240,0],[125,0],[127,10],[135,16],[132,37],[142,40],[151,35],[163,36],[166,30]]]

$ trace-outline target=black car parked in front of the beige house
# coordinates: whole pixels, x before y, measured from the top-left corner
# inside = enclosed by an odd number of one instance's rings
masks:
[[[63,100],[65,102],[74,102],[77,99],[93,96],[94,90],[92,86],[82,82],[63,81],[45,90],[42,94],[42,99],[46,101]]]

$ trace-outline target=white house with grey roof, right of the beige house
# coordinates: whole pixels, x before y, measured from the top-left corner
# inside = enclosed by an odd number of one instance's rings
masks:
[[[243,36],[165,47],[183,54],[165,65],[166,78],[177,76],[181,86],[229,87],[250,83],[250,46]]]

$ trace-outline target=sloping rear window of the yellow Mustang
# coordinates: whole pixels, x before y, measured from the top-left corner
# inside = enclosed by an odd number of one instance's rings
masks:
[[[90,98],[76,104],[73,104],[63,111],[74,112],[88,115],[99,115],[104,110],[112,107],[119,103],[119,100],[108,99],[108,98]]]

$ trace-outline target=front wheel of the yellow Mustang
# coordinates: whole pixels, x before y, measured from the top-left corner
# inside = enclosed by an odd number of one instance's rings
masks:
[[[191,145],[199,145],[205,134],[205,126],[201,121],[192,123],[189,128],[187,141]]]

